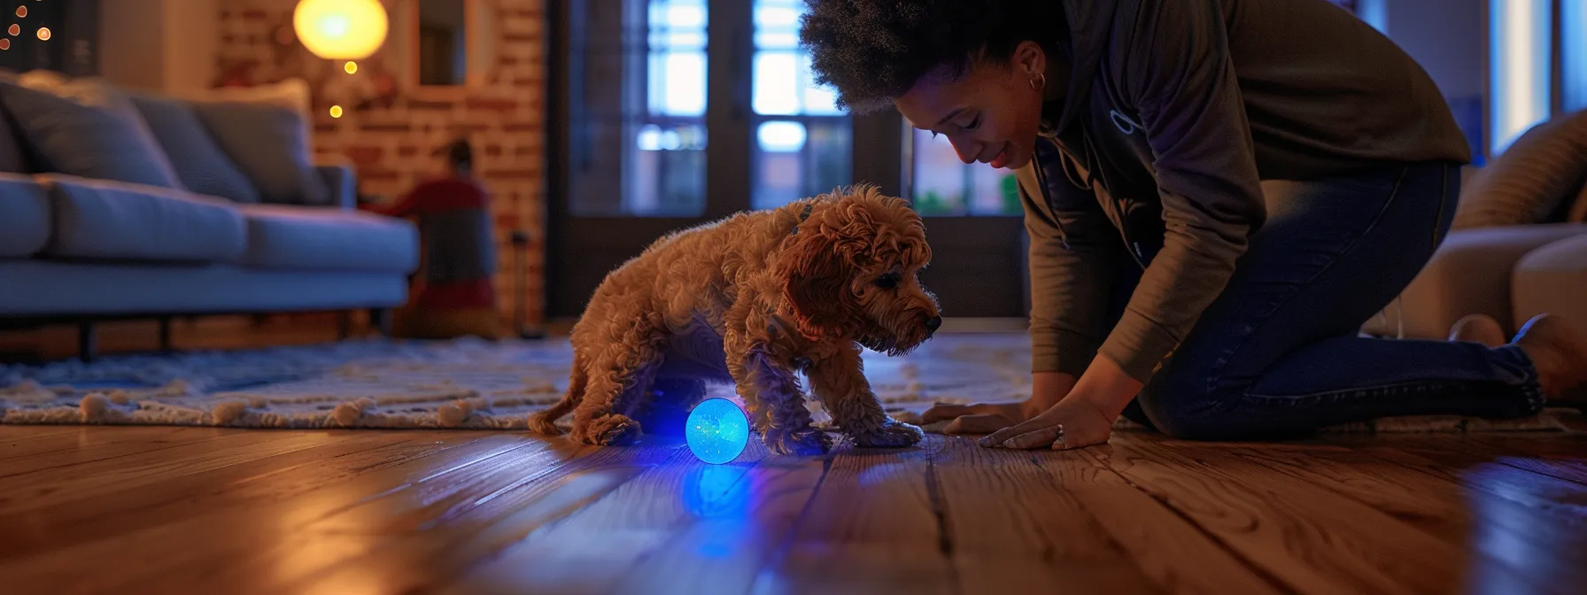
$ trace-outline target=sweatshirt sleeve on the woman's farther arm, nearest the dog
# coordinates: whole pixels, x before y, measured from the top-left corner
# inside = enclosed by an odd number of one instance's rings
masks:
[[[1030,363],[1032,371],[1079,378],[1108,335],[1122,244],[1095,195],[1055,186],[1020,192],[1030,236]],[[1043,192],[1060,194],[1049,203],[1052,216],[1035,203]]]

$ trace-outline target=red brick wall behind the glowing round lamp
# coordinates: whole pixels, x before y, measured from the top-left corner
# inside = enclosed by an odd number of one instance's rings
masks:
[[[501,36],[495,43],[497,67],[490,79],[459,97],[406,97],[381,92],[365,105],[335,100],[329,90],[348,81],[392,89],[379,73],[389,49],[360,60],[360,78],[343,73],[309,54],[292,38],[295,0],[221,0],[216,86],[263,84],[302,76],[316,89],[314,151],[319,159],[348,159],[359,171],[363,194],[397,197],[443,162],[433,151],[459,135],[475,146],[476,176],[490,192],[495,219],[498,268],[497,298],[505,321],[516,300],[514,267],[519,254],[509,235],[525,230],[525,313],[528,324],[543,321],[543,178],[544,178],[544,10],[543,0],[487,0],[497,11]],[[392,3],[387,2],[387,6]],[[390,35],[397,35],[392,32]],[[343,117],[330,105],[344,105]]]

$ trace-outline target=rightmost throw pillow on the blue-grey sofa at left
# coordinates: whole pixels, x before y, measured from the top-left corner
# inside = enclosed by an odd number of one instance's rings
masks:
[[[194,111],[265,203],[314,205],[332,202],[330,187],[314,170],[308,122],[297,109],[238,102],[197,102]]]

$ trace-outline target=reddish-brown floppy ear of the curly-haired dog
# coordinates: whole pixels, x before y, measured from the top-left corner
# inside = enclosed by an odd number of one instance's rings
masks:
[[[854,308],[849,295],[854,273],[830,236],[819,228],[806,228],[787,238],[774,271],[801,335],[813,340],[843,338]]]

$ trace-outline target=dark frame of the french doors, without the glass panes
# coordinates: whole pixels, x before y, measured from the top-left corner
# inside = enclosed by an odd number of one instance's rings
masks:
[[[570,132],[579,89],[578,40],[571,22],[579,0],[548,2],[548,143],[544,313],[576,317],[605,271],[636,255],[667,232],[749,208],[752,165],[752,3],[706,0],[706,197],[698,217],[573,216],[568,203]],[[908,130],[897,111],[852,114],[852,176],[890,195],[908,197]],[[738,148],[738,149],[733,149]],[[616,175],[616,173],[614,173]],[[1024,233],[1019,217],[927,216],[933,262],[922,282],[949,317],[1025,317]]]

